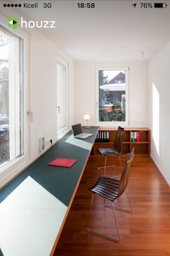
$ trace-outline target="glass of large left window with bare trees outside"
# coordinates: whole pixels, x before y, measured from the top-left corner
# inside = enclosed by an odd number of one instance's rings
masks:
[[[9,37],[0,30],[0,165],[9,161]]]

